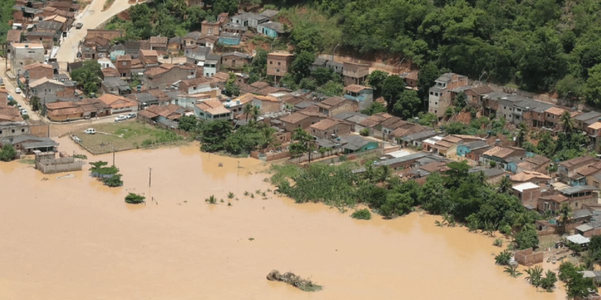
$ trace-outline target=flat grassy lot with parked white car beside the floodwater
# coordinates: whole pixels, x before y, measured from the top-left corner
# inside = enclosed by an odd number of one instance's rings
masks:
[[[103,154],[126,149],[153,146],[161,143],[183,140],[173,131],[153,127],[140,121],[122,121],[95,124],[96,134],[76,133],[82,145],[93,154]],[[81,128],[84,129],[84,128]]]

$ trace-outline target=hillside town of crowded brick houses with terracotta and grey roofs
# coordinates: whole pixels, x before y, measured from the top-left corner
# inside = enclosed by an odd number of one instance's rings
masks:
[[[276,10],[221,13],[204,20],[200,31],[147,40],[123,40],[126,32],[120,30],[78,29],[85,22],[76,18],[79,10],[71,0],[16,0],[7,34],[0,145],[13,146],[19,157],[35,155],[43,173],[82,170],[83,163],[50,137],[56,124],[135,120],[181,134],[189,133],[180,120],[192,117],[195,124],[225,121],[233,130],[263,124],[271,128],[272,142],[245,152],[257,160],[334,163],[375,155],[374,166],[419,184],[449,170],[448,163],[465,162],[469,173],[481,173],[489,184],[510,181],[523,208],[545,216],[535,221],[538,236],[567,233],[569,241],[585,246],[601,235],[601,112],[452,70],[438,74],[427,92],[419,91],[419,70],[403,68],[387,73],[402,80],[400,93],[426,98],[420,99],[421,114],[401,118],[368,80],[382,70],[361,59],[337,61],[324,53],[303,67],[337,74],[343,88],[333,94],[282,83],[297,68],[300,53],[267,44],[262,58],[261,50],[250,50],[257,36],[276,41],[289,34]],[[57,61],[61,41],[79,30],[87,32],[74,61]],[[252,80],[249,66],[259,59],[266,76]],[[372,113],[374,105],[384,109]],[[291,144],[300,131],[311,141],[308,151],[298,153]],[[83,134],[73,133],[74,143]],[[582,151],[565,160],[545,152],[543,143],[560,134],[580,135]],[[572,212],[564,223],[562,206]]]

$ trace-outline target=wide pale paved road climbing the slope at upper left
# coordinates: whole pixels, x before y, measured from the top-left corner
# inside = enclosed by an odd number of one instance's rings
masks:
[[[82,22],[84,26],[81,29],[75,29],[74,25],[69,30],[69,34],[64,38],[60,49],[56,52],[56,61],[59,63],[74,62],[78,53],[79,41],[84,40],[88,29],[96,28],[106,20],[111,19],[115,14],[118,14],[131,6],[131,4],[127,4],[127,0],[115,0],[111,5],[111,8],[102,11],[105,2],[106,0],[93,0],[90,5],[85,8],[84,13],[76,18],[74,23]]]

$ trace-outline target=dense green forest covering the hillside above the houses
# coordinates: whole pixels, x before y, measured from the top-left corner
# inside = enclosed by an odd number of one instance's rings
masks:
[[[281,4],[281,15],[299,28],[291,32],[297,48],[331,52],[340,44],[339,51],[406,57],[418,67],[436,62],[474,79],[601,100],[599,1],[322,0],[302,9]]]

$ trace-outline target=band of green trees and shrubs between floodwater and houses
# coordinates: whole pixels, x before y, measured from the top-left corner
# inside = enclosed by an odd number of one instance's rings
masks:
[[[451,162],[450,170],[429,175],[419,186],[392,176],[386,165],[374,167],[371,160],[360,174],[353,173],[352,167],[350,163],[315,163],[302,169],[272,166],[271,181],[279,193],[297,203],[323,202],[341,209],[361,203],[385,218],[407,214],[419,206],[430,214],[444,215],[450,224],[457,220],[470,230],[513,235],[520,249],[538,245],[534,221],[540,216],[526,211],[511,194],[508,178],[495,187],[487,184],[482,173],[468,173],[465,162]]]

